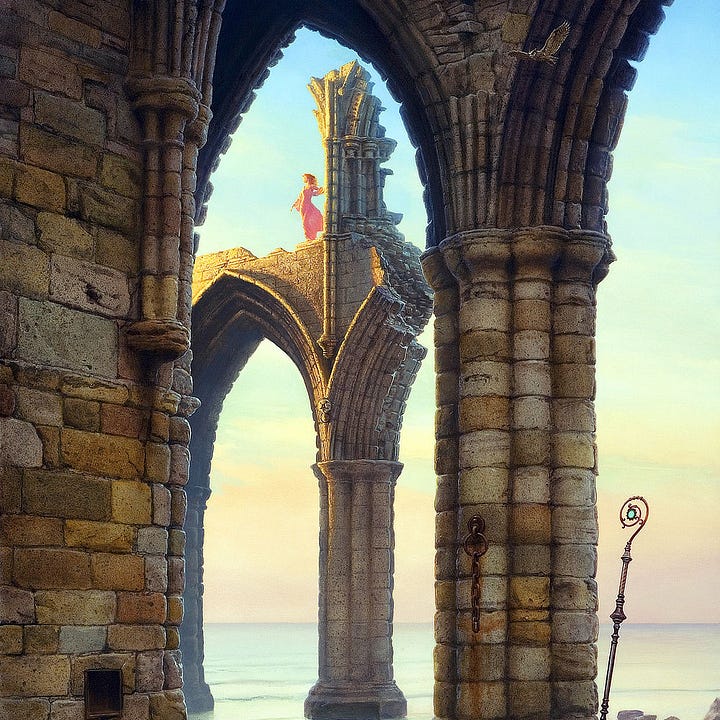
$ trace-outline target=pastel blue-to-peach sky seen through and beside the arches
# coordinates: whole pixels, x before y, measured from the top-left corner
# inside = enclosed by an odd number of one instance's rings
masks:
[[[618,260],[598,290],[600,617],[614,607],[627,540],[619,508],[642,495],[650,517],[633,545],[628,622],[717,623],[720,5],[678,2],[666,14],[638,65],[609,185],[608,230]],[[212,176],[200,254],[242,246],[262,256],[303,240],[299,216],[288,208],[302,173],[322,177],[324,169],[307,83],[353,59],[351,50],[317,33],[298,32]],[[398,141],[387,163],[394,172],[387,207],[404,214],[400,230],[423,247],[426,213],[414,149],[397,104],[362,64],[387,108],[381,118],[387,135]],[[432,347],[429,331],[419,339]],[[434,614],[433,422],[430,354],[413,386],[400,446],[397,622],[431,622]],[[240,373],[218,427],[205,517],[207,622],[316,620],[314,459],[299,372],[265,341]]]

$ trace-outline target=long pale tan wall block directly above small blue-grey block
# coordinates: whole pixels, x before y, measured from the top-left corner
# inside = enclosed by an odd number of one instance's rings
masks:
[[[115,618],[115,593],[101,590],[46,590],[36,593],[39,623],[103,625]]]

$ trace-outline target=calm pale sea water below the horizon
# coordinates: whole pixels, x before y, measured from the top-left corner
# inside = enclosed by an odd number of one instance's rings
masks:
[[[610,632],[610,626],[601,627],[601,682]],[[205,641],[205,677],[215,710],[193,720],[302,720],[303,702],[317,679],[314,624],[209,624]],[[395,679],[408,701],[408,720],[433,716],[433,644],[430,625],[395,625]],[[720,625],[622,627],[608,717],[638,709],[659,720],[703,720],[716,697]]]

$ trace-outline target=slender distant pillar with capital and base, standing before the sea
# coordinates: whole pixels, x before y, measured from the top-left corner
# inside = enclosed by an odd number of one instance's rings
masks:
[[[402,464],[332,460],[313,469],[320,484],[320,650],[305,716],[404,717],[392,669],[392,508]]]

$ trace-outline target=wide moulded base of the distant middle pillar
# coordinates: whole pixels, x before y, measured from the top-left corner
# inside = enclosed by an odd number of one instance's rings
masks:
[[[394,682],[317,683],[305,700],[305,717],[312,720],[388,720],[406,715],[407,700]]]

